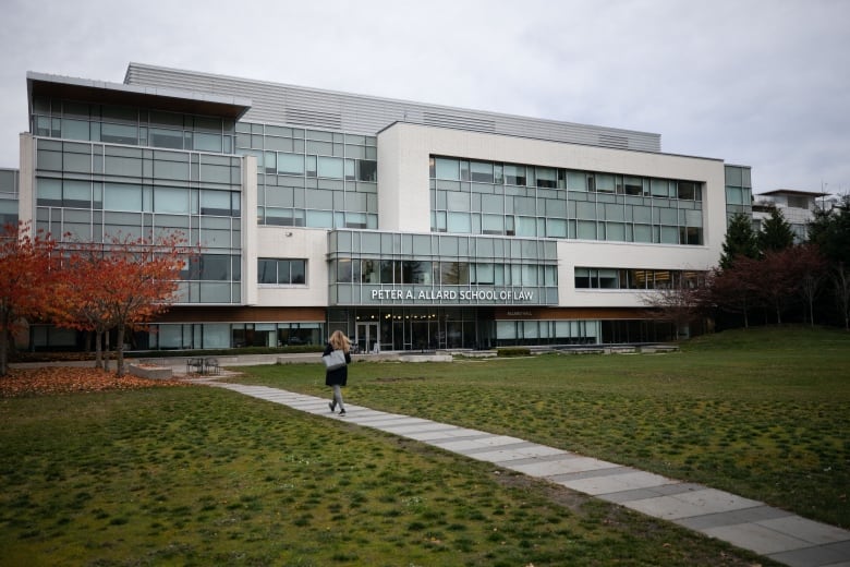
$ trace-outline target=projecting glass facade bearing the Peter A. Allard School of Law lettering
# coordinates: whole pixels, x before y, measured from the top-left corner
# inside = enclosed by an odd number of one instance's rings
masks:
[[[331,305],[558,303],[552,240],[332,231]]]

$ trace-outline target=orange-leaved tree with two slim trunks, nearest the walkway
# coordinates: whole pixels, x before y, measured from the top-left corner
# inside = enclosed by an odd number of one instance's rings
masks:
[[[116,329],[117,373],[124,374],[124,337],[177,301],[180,273],[192,253],[180,234],[157,239],[118,234],[104,243],[66,245],[60,326],[96,335],[95,365],[101,366],[102,336]]]

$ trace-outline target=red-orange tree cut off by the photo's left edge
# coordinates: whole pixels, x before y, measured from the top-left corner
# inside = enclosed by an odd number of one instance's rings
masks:
[[[28,222],[5,225],[0,233],[0,376],[9,372],[9,337],[19,322],[49,311],[56,242],[33,236]]]

